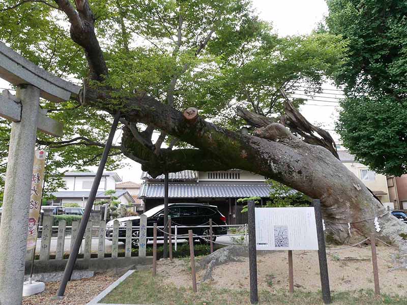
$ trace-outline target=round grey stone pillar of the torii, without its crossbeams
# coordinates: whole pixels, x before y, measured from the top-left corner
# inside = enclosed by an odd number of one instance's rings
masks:
[[[34,145],[37,135],[40,89],[32,85],[17,87],[23,118],[12,123],[9,157],[4,187],[0,227],[0,304],[22,301],[25,252],[28,234]],[[22,149],[27,147],[28,149]]]

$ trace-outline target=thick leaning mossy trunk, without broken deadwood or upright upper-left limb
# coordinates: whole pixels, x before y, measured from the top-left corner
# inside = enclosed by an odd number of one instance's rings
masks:
[[[86,91],[86,101],[108,105],[108,90]],[[107,103],[106,103],[107,102]],[[95,105],[96,106],[96,105]],[[109,107],[105,107],[108,109]],[[152,175],[164,171],[225,170],[240,168],[264,175],[311,198],[321,199],[328,241],[348,243],[353,237],[375,232],[394,246],[407,249],[407,225],[393,217],[363,183],[322,146],[303,142],[278,123],[256,130],[255,135],[231,132],[199,116],[184,115],[153,98],[125,98],[120,106],[127,121],[153,124],[199,149],[163,150],[150,154],[125,130],[122,147],[134,160],[149,159],[143,169]],[[266,139],[267,138],[267,139]],[[149,155],[150,154],[150,155]],[[160,160],[160,161],[159,161]],[[351,223],[351,230],[348,230]],[[351,232],[351,235],[349,234]]]

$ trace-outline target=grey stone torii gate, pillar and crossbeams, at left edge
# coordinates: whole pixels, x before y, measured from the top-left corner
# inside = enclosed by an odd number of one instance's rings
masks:
[[[0,95],[0,116],[11,120],[9,156],[0,223],[0,305],[22,301],[28,212],[37,130],[62,136],[62,124],[40,109],[40,97],[63,102],[80,87],[56,77],[0,42],[0,78],[17,86]]]

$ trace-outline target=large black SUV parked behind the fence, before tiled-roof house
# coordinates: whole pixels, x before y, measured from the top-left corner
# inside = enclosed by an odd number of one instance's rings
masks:
[[[144,212],[147,216],[147,226],[153,226],[157,223],[157,226],[164,225],[164,205],[153,207],[152,209]],[[213,233],[215,235],[223,235],[227,233],[226,228],[217,227],[216,225],[226,225],[226,217],[219,212],[218,207],[215,205],[201,204],[201,203],[170,203],[168,204],[168,216],[171,217],[172,225],[179,226],[199,226],[209,225],[209,219],[212,219],[214,225]],[[122,217],[117,219],[119,221],[119,241],[126,241],[126,222],[132,221],[132,226],[140,225],[139,216]],[[111,220],[106,224],[106,238],[112,240],[113,237],[113,221]],[[123,228],[123,229],[121,229]],[[178,234],[188,234],[188,229],[191,229],[194,234],[197,235],[209,235],[210,230],[207,228],[178,228]],[[158,236],[163,236],[163,232],[157,230]],[[132,237],[139,236],[139,229],[132,230]],[[153,228],[147,229],[147,237],[153,236]],[[151,239],[151,238],[150,238]],[[206,238],[206,239],[209,239]],[[215,241],[216,236],[213,236]],[[200,239],[201,242],[207,242],[207,240]],[[132,240],[132,247],[138,247],[138,239]]]

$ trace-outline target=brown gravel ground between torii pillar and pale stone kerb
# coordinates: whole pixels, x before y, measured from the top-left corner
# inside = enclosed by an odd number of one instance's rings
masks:
[[[51,299],[56,295],[60,282],[45,283],[45,291],[23,298],[23,305],[84,305],[117,280],[119,276],[112,273],[99,273],[93,278],[71,281],[67,285],[65,297],[61,300]]]

